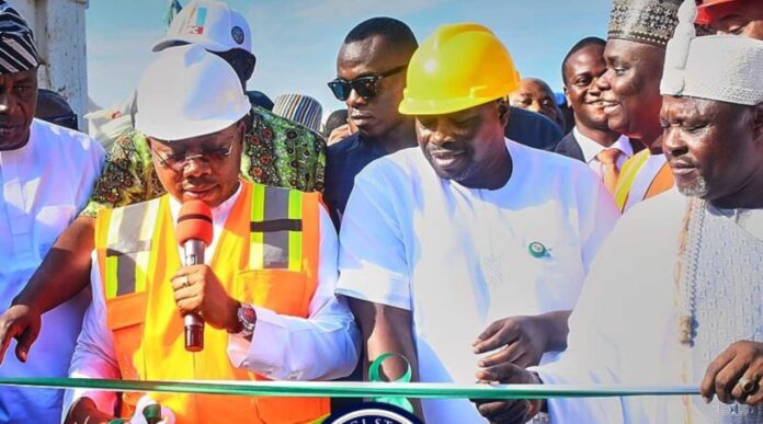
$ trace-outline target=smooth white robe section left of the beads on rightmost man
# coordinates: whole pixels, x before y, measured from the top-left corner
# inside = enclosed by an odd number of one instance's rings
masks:
[[[698,385],[703,375],[682,376],[687,356],[679,340],[675,300],[686,203],[672,190],[620,218],[570,317],[568,349],[538,369],[544,382]],[[749,231],[763,239],[763,220],[751,222]],[[686,412],[682,397],[551,399],[548,406],[555,424],[683,423]],[[693,416],[694,424],[704,423]]]

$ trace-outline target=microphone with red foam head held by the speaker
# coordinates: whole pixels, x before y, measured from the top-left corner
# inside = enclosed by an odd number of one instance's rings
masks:
[[[175,234],[183,247],[183,266],[204,263],[204,250],[212,243],[212,209],[202,200],[183,204],[178,216]],[[197,313],[183,317],[185,321],[185,349],[200,352],[204,348],[204,320]]]

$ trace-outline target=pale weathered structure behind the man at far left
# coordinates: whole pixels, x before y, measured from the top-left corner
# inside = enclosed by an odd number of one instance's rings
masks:
[[[39,87],[64,95],[87,130],[88,60],[84,10],[89,0],[7,0],[30,23],[41,56]],[[53,66],[50,66],[53,64]]]

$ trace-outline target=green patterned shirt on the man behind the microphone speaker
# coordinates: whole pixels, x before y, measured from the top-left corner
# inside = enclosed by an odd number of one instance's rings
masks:
[[[251,182],[304,192],[323,191],[326,142],[316,133],[261,107],[252,108],[244,138],[241,176]],[[145,135],[132,130],[116,139],[81,215],[150,200],[164,194]]]

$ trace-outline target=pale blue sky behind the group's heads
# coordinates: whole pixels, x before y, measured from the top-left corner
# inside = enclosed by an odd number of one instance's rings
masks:
[[[90,0],[86,12],[90,98],[107,107],[124,102],[151,61],[166,31],[169,0]],[[186,4],[189,0],[180,0]],[[337,76],[337,53],[346,33],[373,16],[406,22],[421,42],[443,23],[490,27],[523,77],[561,91],[560,62],[579,39],[606,37],[611,0],[228,0],[252,30],[257,68],[249,90],[271,99],[301,93],[317,99],[324,116],[344,107],[326,83]],[[584,4],[584,7],[583,7]]]

